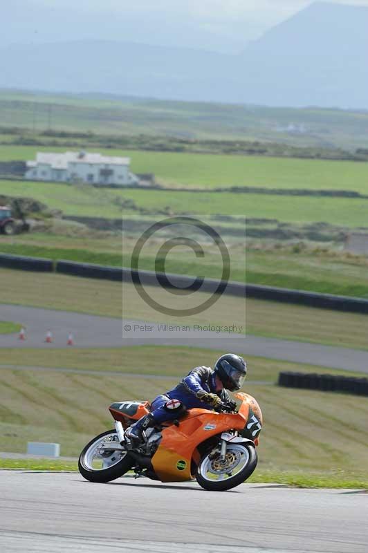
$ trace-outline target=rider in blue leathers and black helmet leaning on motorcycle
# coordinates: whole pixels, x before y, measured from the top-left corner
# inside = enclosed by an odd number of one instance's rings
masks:
[[[227,389],[237,391],[246,379],[247,366],[243,357],[234,353],[221,355],[214,369],[198,366],[175,388],[158,395],[151,402],[151,413],[140,418],[126,431],[125,436],[134,447],[142,442],[142,432],[165,421],[176,420],[187,409],[216,409],[219,404],[231,403]]]

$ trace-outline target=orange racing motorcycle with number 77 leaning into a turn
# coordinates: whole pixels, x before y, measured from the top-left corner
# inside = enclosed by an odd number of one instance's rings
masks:
[[[149,428],[133,449],[125,429],[149,413],[149,402],[117,402],[109,407],[115,429],[84,447],[78,466],[91,482],[109,482],[133,470],[161,482],[196,478],[205,489],[224,491],[244,482],[257,466],[262,413],[254,397],[234,394],[237,406],[217,411],[190,409],[180,420]]]

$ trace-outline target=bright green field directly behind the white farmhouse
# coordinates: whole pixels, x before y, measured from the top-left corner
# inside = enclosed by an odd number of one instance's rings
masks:
[[[65,151],[65,147],[2,144],[0,161],[33,160],[37,151]],[[156,180],[165,185],[332,189],[368,194],[367,162],[212,156],[119,149],[98,151],[107,156],[128,156],[131,158],[132,171],[154,173]]]

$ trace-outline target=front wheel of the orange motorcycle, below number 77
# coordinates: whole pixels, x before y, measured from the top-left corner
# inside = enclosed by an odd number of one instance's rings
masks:
[[[226,491],[239,486],[257,467],[257,451],[252,444],[228,444],[226,458],[210,453],[199,462],[196,481],[204,489]]]

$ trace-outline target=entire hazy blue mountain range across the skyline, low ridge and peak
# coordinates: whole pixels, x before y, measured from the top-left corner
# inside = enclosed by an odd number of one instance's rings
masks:
[[[368,8],[317,2],[239,55],[80,41],[0,50],[0,87],[368,109]]]

